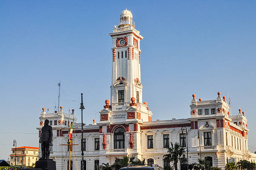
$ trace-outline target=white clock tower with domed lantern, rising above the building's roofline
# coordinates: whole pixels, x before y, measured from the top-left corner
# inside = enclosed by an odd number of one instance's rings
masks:
[[[113,40],[111,99],[105,101],[100,111],[101,121],[138,118],[142,122],[151,121],[152,113],[142,101],[140,43],[143,37],[135,28],[131,11],[123,10],[110,36]]]

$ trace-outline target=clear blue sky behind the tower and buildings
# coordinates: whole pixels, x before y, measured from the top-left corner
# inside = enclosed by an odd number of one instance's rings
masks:
[[[190,117],[196,99],[230,96],[248,119],[256,149],[256,1],[1,1],[0,159],[38,147],[41,108],[54,112],[61,80],[64,111],[84,93],[85,123],[110,99],[112,38],[127,8],[141,41],[143,101],[153,120]],[[3,133],[5,132],[5,133]],[[7,132],[7,133],[6,133]],[[32,133],[32,134],[27,134]],[[254,147],[254,148],[253,148]]]

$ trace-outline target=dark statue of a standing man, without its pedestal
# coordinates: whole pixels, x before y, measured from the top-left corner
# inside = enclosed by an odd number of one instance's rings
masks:
[[[40,159],[49,159],[50,145],[52,145],[52,127],[49,125],[48,119],[44,121],[44,127],[41,131],[39,143],[41,143],[42,157]]]

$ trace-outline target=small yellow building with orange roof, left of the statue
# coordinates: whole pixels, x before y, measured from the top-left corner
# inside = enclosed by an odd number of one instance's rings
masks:
[[[15,147],[12,148],[12,153],[10,156],[10,165],[15,165],[15,157],[16,165],[25,165],[31,166],[33,163],[36,163],[38,160],[38,147],[16,147],[16,155],[15,155]]]

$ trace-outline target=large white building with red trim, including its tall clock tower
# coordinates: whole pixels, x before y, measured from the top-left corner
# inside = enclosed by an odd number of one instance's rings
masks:
[[[214,100],[191,101],[191,116],[188,119],[172,119],[151,121],[152,112],[147,103],[142,100],[142,84],[140,59],[140,42],[143,37],[135,29],[133,15],[124,10],[120,15],[120,22],[113,33],[112,56],[112,86],[111,99],[105,101],[104,109],[100,111],[100,122],[84,126],[84,167],[93,170],[95,166],[109,162],[113,164],[115,157],[135,155],[139,159],[164,166],[163,155],[170,142],[179,142],[186,147],[186,135],[181,127],[188,131],[188,162],[197,162],[200,158],[212,162],[212,166],[224,169],[230,161],[241,159],[256,161],[256,154],[248,151],[247,119],[239,111],[230,115],[228,104],[218,93]],[[68,114],[41,113],[39,135],[44,120],[49,119],[53,127],[54,146],[51,147],[50,157],[56,161],[57,170],[67,169]],[[81,166],[81,123],[77,123],[75,114],[71,114],[74,122],[72,167],[78,170]],[[200,140],[198,140],[198,133]],[[103,137],[105,136],[105,137]],[[103,141],[104,140],[104,141]],[[41,147],[39,145],[39,155]],[[187,155],[186,155],[187,157]],[[187,158],[185,158],[187,159]],[[85,169],[84,168],[84,169]],[[181,169],[181,165],[178,165]]]

